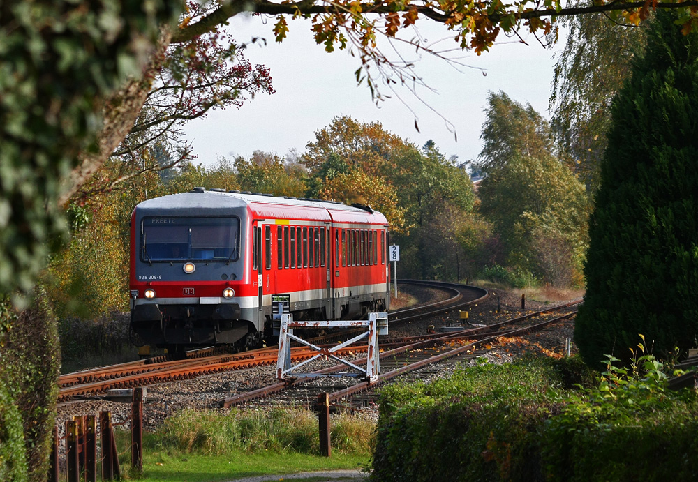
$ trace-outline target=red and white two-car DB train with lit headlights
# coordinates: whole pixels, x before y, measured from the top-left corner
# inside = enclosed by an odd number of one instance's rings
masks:
[[[388,224],[368,206],[191,192],[149,199],[131,217],[131,329],[147,343],[259,346],[297,320],[389,308]]]

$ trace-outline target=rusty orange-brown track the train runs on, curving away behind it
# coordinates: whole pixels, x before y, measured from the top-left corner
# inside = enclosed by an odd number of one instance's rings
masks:
[[[411,319],[418,319],[443,309],[454,309],[468,306],[487,298],[487,291],[475,287],[454,285],[450,283],[419,283],[436,289],[443,289],[449,294],[444,301],[430,303],[415,308],[396,310],[390,313],[391,324],[398,324]],[[338,337],[346,339],[350,333],[343,331],[325,337],[314,338],[314,343],[332,343]],[[366,349],[361,346],[347,347],[341,352],[361,352]],[[310,358],[315,352],[302,347],[295,347],[292,357],[295,361]],[[96,396],[109,389],[128,388],[162,382],[172,382],[181,379],[209,375],[211,373],[241,370],[255,366],[276,363],[277,348],[269,347],[255,349],[238,354],[221,354],[216,349],[201,349],[187,352],[187,358],[178,361],[167,361],[164,357],[157,359],[139,360],[119,365],[83,370],[81,372],[61,375],[59,379],[59,401],[66,402],[80,396]]]

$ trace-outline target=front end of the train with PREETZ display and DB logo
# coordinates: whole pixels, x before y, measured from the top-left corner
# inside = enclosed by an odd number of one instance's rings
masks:
[[[246,306],[240,199],[194,190],[149,199],[131,218],[131,329],[147,345],[185,347],[258,342]],[[248,276],[247,276],[248,277]]]

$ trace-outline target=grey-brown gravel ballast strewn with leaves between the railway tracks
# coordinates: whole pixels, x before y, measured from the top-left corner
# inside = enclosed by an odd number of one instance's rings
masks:
[[[438,299],[443,297],[443,294],[438,290],[429,289],[424,292],[424,290],[419,290],[417,287],[410,285],[402,285],[399,287],[399,290],[401,299],[413,299],[417,303],[426,303],[429,299],[438,301]],[[520,293],[503,290],[494,291],[488,300],[480,303],[480,306],[471,308],[470,322],[472,324],[491,324],[522,313]],[[526,310],[542,310],[548,306],[555,306],[574,299],[572,296],[562,296],[561,298],[565,299],[550,303],[528,299],[526,301]],[[430,324],[434,324],[436,329],[438,329],[440,326],[446,326],[447,324],[457,325],[459,322],[460,313],[458,310],[453,310],[440,317],[440,319],[405,322],[400,326],[391,326],[390,336],[424,334]],[[509,339],[506,345],[494,345],[486,356],[493,363],[505,363],[526,353],[540,354],[542,356],[561,356],[565,349],[565,340],[572,338],[573,331],[573,321],[558,322],[548,326],[543,331]],[[574,352],[576,352],[576,347],[572,344],[572,353],[574,354]],[[320,362],[313,367],[309,367],[308,370],[316,370],[333,364],[332,362]],[[430,372],[429,377],[436,378],[450,373],[453,370],[453,366],[446,363],[443,366],[437,364],[436,366],[426,368],[426,370]],[[272,384],[275,371],[276,368],[274,366],[265,366],[148,386],[147,402],[144,406],[144,428],[145,430],[154,430],[166,416],[181,409],[188,407],[215,408],[221,400],[236,393],[243,393]],[[346,383],[346,380],[341,378],[334,379],[333,382],[334,385],[338,386],[338,389]],[[257,404],[252,403],[250,407],[255,405]],[[106,400],[81,400],[59,406],[57,414],[59,430],[62,431],[65,421],[74,415],[98,414],[101,410],[112,412],[113,423],[126,421],[130,416],[130,405],[125,403]],[[373,409],[373,414],[374,416],[377,415],[376,409]]]

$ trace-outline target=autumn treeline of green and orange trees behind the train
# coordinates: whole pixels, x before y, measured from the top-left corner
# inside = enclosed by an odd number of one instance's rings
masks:
[[[487,114],[477,163],[348,116],[318,130],[304,153],[284,158],[255,151],[210,167],[166,167],[160,144],[150,153],[160,170],[138,172],[112,158],[68,206],[73,235],[45,273],[48,296],[64,318],[126,310],[133,207],[194,186],[369,204],[390,222],[403,278],[580,285],[584,185],[554,156],[549,126],[530,106],[493,93]],[[484,174],[479,190],[473,170]]]

